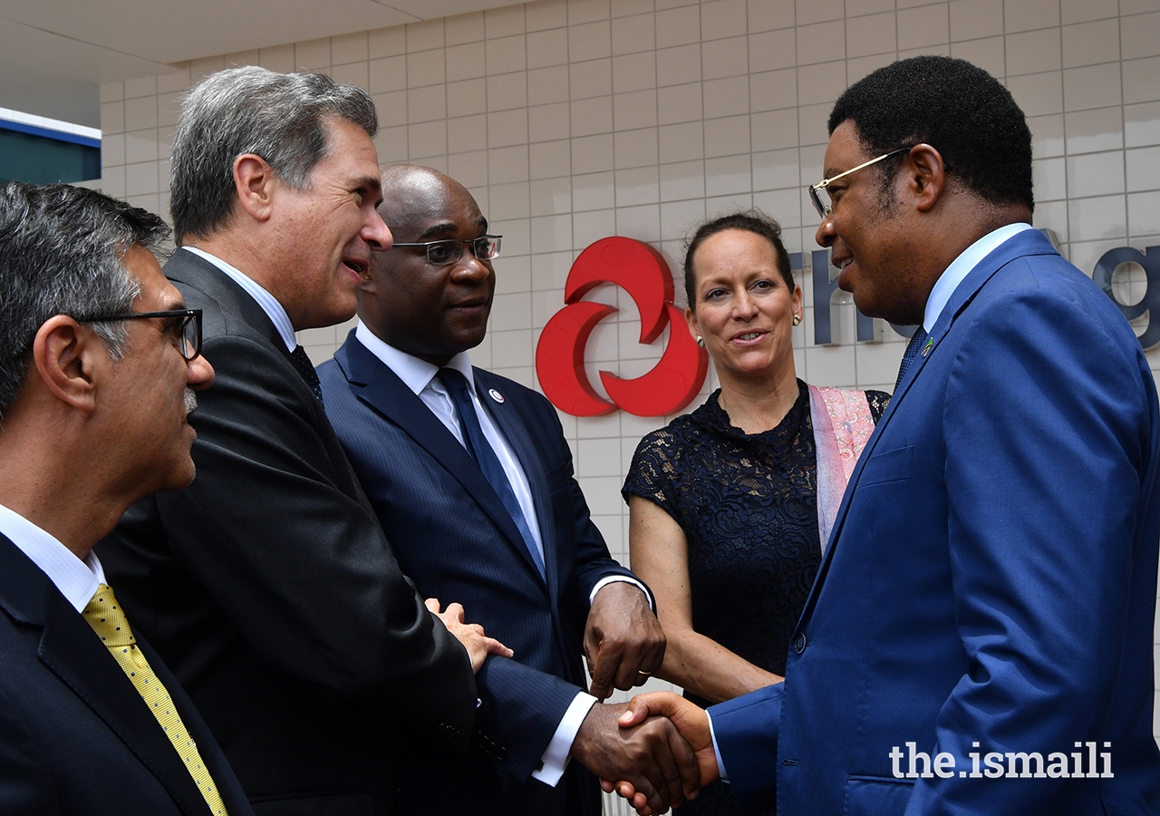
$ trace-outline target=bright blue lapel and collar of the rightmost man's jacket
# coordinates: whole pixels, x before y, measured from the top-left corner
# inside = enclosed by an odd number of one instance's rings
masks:
[[[842,527],[846,523],[846,515],[849,510],[850,499],[854,496],[855,488],[857,486],[858,478],[862,476],[862,471],[865,468],[867,462],[873,455],[875,448],[878,446],[878,440],[882,439],[883,433],[885,433],[886,427],[890,425],[890,420],[894,416],[897,406],[901,403],[902,398],[909,392],[911,388],[918,381],[919,376],[922,374],[922,369],[926,367],[927,360],[933,358],[938,351],[938,345],[942,342],[943,338],[950,331],[955,320],[958,316],[966,310],[969,305],[974,301],[974,297],[979,294],[983,287],[989,281],[996,272],[999,272],[1003,266],[1009,263],[1016,258],[1022,258],[1025,255],[1042,255],[1042,254],[1058,254],[1051,241],[1038,230],[1024,230],[995,247],[988,255],[986,255],[981,261],[979,261],[976,267],[967,273],[963,282],[958,284],[951,295],[947,305],[943,306],[942,313],[938,316],[938,322],[930,332],[930,345],[929,351],[926,354],[919,354],[911,362],[911,368],[907,371],[907,376],[904,377],[899,390],[891,397],[890,405],[886,406],[885,413],[883,413],[882,419],[875,427],[870,439],[867,441],[865,449],[863,449],[862,455],[858,457],[858,462],[854,465],[854,472],[850,474],[850,481],[846,486],[846,493],[842,496],[842,504],[838,510],[838,517],[834,520],[834,530],[829,536],[829,546],[826,548],[826,554],[822,557],[821,568],[818,571],[818,580],[814,580],[813,587],[810,590],[810,597],[806,600],[805,612],[803,618],[813,607],[817,600],[817,594],[821,588],[822,578],[829,569],[829,563],[834,558],[834,550],[838,549],[838,542],[842,532]]]

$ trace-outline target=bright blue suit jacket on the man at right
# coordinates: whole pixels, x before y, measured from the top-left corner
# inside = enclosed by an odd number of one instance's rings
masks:
[[[776,789],[784,816],[1155,814],[1160,417],[1139,342],[1035,231],[931,338],[850,478],[785,683],[711,709],[733,787]],[[918,752],[950,754],[947,777],[906,778],[907,743],[918,773]],[[1111,775],[972,775],[998,773],[991,752]]]

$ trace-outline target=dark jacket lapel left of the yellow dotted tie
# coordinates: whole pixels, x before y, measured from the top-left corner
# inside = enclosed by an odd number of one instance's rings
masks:
[[[20,623],[42,630],[41,663],[121,738],[183,813],[203,813],[197,785],[121,666],[48,576],[3,536],[0,575],[0,604]],[[176,680],[165,683],[168,688]]]

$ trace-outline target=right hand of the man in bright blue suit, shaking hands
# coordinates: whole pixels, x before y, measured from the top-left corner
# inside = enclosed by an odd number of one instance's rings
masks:
[[[617,724],[623,729],[631,729],[639,728],[640,723],[657,722],[658,718],[665,718],[666,722],[675,727],[694,752],[698,783],[691,789],[686,785],[683,790],[684,797],[691,799],[698,788],[713,781],[718,775],[717,754],[713,752],[713,741],[709,732],[709,715],[705,714],[704,709],[672,692],[653,692],[638,694],[629,700],[628,708],[621,715]],[[616,790],[636,808],[640,816],[664,813],[664,810],[657,810],[653,807],[652,797],[638,785],[635,785],[631,779],[609,777],[603,773],[600,774],[600,785],[606,793]],[[618,781],[611,781],[614,779]],[[672,802],[672,804],[676,807],[679,802]]]

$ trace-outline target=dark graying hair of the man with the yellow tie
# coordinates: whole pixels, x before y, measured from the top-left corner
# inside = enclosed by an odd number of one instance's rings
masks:
[[[122,258],[138,244],[155,252],[168,237],[152,212],[82,187],[13,181],[0,192],[0,419],[23,388],[44,322],[130,311],[140,284]],[[124,354],[124,323],[89,325],[114,359]]]

